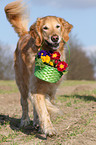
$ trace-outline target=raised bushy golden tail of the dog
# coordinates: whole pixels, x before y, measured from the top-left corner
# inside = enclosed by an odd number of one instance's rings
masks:
[[[27,26],[29,22],[27,9],[21,2],[22,0],[14,1],[5,7],[6,17],[19,37],[28,33]]]

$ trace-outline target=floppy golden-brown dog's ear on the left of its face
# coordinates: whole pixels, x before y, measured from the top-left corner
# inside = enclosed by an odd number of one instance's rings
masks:
[[[38,18],[36,23],[30,27],[31,36],[35,39],[36,46],[42,44],[42,19]]]

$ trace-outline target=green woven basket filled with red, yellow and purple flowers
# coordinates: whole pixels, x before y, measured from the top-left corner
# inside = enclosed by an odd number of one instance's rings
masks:
[[[67,72],[68,64],[60,60],[60,53],[40,50],[35,57],[34,75],[44,81],[56,83]]]

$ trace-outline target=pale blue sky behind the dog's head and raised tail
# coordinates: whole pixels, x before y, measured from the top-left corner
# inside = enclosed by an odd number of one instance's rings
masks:
[[[0,41],[16,46],[18,36],[6,19],[4,7],[14,0],[0,0]],[[25,0],[30,10],[29,27],[38,17],[59,16],[71,23],[86,50],[96,49],[96,0]]]

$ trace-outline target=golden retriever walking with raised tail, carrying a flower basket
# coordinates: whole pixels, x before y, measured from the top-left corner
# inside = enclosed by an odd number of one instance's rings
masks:
[[[50,113],[58,112],[52,101],[62,78],[57,83],[48,83],[34,76],[35,55],[42,46],[46,51],[59,51],[64,56],[64,42],[69,39],[72,25],[62,18],[46,16],[38,18],[27,30],[28,19],[26,9],[21,1],[15,1],[5,7],[7,19],[20,37],[14,53],[14,68],[16,83],[21,94],[22,119],[21,126],[30,123],[28,102],[33,104],[33,126],[40,125],[45,135],[55,135],[55,129],[50,120]]]

